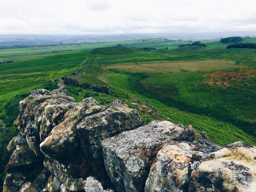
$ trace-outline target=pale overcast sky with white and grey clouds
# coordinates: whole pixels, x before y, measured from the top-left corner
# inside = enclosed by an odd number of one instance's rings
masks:
[[[0,0],[0,34],[256,31],[253,0]]]

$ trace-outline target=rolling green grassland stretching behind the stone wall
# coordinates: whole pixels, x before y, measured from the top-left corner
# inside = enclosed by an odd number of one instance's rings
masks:
[[[256,38],[244,41],[254,43]],[[184,43],[158,38],[0,50],[0,61],[15,61],[0,64],[0,119],[10,133],[6,138],[14,136],[12,122],[19,113],[18,102],[33,89],[56,88],[53,79],[72,75],[91,51],[84,64],[88,67],[82,69],[87,76],[78,81],[108,86],[113,95],[67,85],[77,102],[93,96],[108,105],[120,99],[136,108],[145,123],[169,117],[174,123],[206,131],[218,145],[235,141],[256,145],[256,50],[226,49],[227,44],[218,41],[202,41],[207,45],[203,48],[178,48]],[[155,111],[148,115],[140,101],[153,105],[162,115]],[[2,179],[7,160],[2,155]]]

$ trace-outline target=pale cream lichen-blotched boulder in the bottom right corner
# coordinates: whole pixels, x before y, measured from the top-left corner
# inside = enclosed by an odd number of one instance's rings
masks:
[[[191,174],[190,192],[256,189],[256,147],[235,142],[210,153]]]

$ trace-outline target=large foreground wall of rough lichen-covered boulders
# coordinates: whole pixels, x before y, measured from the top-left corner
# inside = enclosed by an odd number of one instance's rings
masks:
[[[222,148],[205,132],[194,140],[192,125],[168,120],[144,125],[118,99],[107,107],[94,98],[75,102],[62,79],[53,91],[33,90],[14,121],[18,133],[7,147],[3,191],[255,190],[254,146]]]

